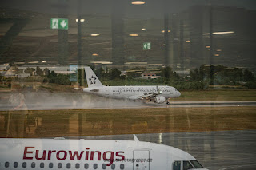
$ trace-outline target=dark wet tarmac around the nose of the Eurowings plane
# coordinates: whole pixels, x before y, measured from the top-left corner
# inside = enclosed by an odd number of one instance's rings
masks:
[[[180,148],[212,170],[256,169],[256,131],[138,134],[138,140]],[[78,138],[78,137],[72,137]],[[134,140],[132,135],[82,136],[82,139]]]

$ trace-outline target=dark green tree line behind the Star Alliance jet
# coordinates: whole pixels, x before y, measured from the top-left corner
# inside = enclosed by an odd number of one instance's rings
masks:
[[[149,73],[143,67],[134,67],[127,71],[126,75],[116,68],[95,69],[92,65],[90,67],[104,85],[171,85],[178,90],[202,90],[207,89],[209,85],[238,85],[248,89],[256,89],[254,73],[248,69],[229,68],[224,65],[201,65],[199,68],[191,69],[186,76],[181,76],[167,66],[158,68],[156,73],[158,78],[156,79],[142,79],[142,73]],[[57,74],[47,68],[26,68],[24,72],[29,73],[30,76],[43,78],[43,82],[71,85],[70,75]],[[73,81],[78,80],[79,85],[86,85],[86,75],[82,72],[84,69],[78,69],[74,73],[74,76],[78,75],[78,78],[74,78]],[[210,75],[211,73],[213,76]]]

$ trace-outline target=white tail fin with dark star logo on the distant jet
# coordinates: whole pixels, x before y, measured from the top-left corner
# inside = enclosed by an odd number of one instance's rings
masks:
[[[102,82],[98,80],[98,77],[95,75],[94,71],[90,67],[85,67],[86,72],[86,81],[89,88],[100,87]]]

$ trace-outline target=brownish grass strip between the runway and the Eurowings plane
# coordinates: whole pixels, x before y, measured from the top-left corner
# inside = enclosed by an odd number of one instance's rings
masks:
[[[0,137],[6,137],[7,114],[0,112]],[[246,130],[256,129],[256,112],[255,107],[41,110],[30,111],[26,125],[25,137]]]

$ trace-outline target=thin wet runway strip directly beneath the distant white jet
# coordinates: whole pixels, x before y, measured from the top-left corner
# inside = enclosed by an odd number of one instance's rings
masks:
[[[56,110],[56,109],[138,109],[138,108],[202,108],[202,107],[245,107],[245,106],[256,106],[256,101],[174,101],[170,105],[156,104],[156,103],[142,103],[134,101],[108,101],[103,105],[72,105],[72,104],[27,104],[29,110]],[[122,105],[120,104],[122,103]],[[140,103],[140,105],[138,105]],[[0,111],[11,109],[11,105],[0,104]]]

